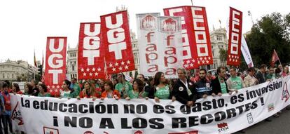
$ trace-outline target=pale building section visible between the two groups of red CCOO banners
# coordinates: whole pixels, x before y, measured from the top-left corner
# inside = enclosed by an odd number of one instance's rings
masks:
[[[226,29],[213,29],[210,32],[210,41],[212,43],[212,56],[214,64],[210,65],[210,69],[216,69],[219,66],[226,66],[226,61],[220,57],[220,50],[223,49],[228,52],[228,37],[226,36]]]

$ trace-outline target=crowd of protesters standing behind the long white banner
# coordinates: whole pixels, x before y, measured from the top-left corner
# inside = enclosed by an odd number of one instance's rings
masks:
[[[258,71],[254,67],[249,67],[247,75],[238,72],[235,67],[230,67],[229,73],[227,70],[226,67],[218,67],[216,75],[212,75],[206,69],[199,69],[192,75],[191,72],[179,68],[177,69],[178,79],[166,79],[163,72],[157,72],[155,76],[149,78],[139,74],[133,81],[126,81],[124,74],[117,74],[117,78],[112,79],[112,81],[90,79],[83,83],[77,83],[76,79],[64,80],[62,90],[54,96],[48,93],[46,84],[41,82],[36,83],[32,80],[26,83],[25,91],[22,93],[17,83],[13,83],[11,88],[10,82],[5,81],[0,93],[0,134],[3,133],[2,127],[5,134],[8,133],[8,130],[13,133],[9,93],[67,99],[91,98],[92,100],[106,100],[107,98],[116,100],[143,98],[148,100],[151,98],[156,102],[177,100],[192,107],[197,99],[207,98],[209,95],[231,95],[242,88],[289,75],[289,67],[282,67],[282,65],[277,68],[268,67],[268,71],[266,65],[261,65]],[[278,116],[279,113],[275,114],[275,117]],[[270,121],[270,119],[265,121]],[[244,130],[241,132],[245,133]]]

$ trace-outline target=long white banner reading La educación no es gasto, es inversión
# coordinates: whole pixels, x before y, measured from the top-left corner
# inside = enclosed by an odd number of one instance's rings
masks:
[[[199,99],[193,107],[172,100],[11,98],[19,102],[26,133],[222,134],[252,126],[290,105],[289,89],[288,76]],[[32,122],[37,123],[32,127]]]

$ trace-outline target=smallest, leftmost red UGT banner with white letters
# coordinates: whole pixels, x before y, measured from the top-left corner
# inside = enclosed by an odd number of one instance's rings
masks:
[[[46,43],[45,83],[51,95],[60,92],[66,79],[67,37],[48,37]]]

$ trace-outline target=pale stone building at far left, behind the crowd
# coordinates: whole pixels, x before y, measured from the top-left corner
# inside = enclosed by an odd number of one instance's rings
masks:
[[[0,82],[8,81],[31,81],[37,74],[37,68],[28,62],[18,60],[6,60],[0,63]]]

